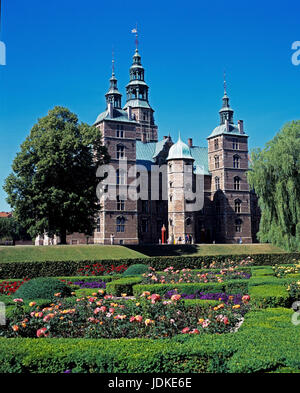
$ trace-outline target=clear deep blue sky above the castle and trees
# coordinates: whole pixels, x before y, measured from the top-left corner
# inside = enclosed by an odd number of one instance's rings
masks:
[[[92,124],[105,109],[112,46],[125,104],[136,22],[159,135],[178,131],[195,144],[218,125],[223,72],[235,120],[249,146],[263,147],[300,118],[298,1],[2,0],[0,40],[0,211],[2,185],[19,146],[55,105]]]

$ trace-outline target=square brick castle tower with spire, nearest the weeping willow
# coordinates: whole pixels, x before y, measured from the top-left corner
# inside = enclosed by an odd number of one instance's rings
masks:
[[[225,82],[226,83],[226,82]],[[248,135],[243,121],[234,124],[234,111],[224,83],[220,125],[208,140],[208,165],[212,175],[211,198],[215,207],[214,238],[220,243],[252,242],[248,171]]]

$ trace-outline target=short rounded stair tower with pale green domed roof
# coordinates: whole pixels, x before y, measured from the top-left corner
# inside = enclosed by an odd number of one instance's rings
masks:
[[[186,195],[193,187],[193,162],[190,148],[179,139],[169,150],[168,162],[168,235],[173,243],[184,243],[185,236],[195,239],[194,214]]]

